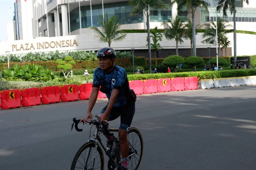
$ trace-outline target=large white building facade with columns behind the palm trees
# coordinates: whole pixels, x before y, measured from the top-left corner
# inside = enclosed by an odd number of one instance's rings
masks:
[[[163,28],[163,26],[161,26],[162,22],[166,22],[168,19],[172,20],[172,18],[177,15],[182,17],[185,22],[191,20],[191,15],[188,14],[189,11],[187,11],[186,8],[178,13],[177,4],[170,7],[170,0],[163,1],[166,9],[150,9],[151,28],[154,28],[155,26]],[[208,3],[208,9],[206,10],[203,7],[197,8],[195,12],[196,25],[202,25],[211,20],[215,21],[215,5],[217,1],[205,1]],[[30,0],[26,2],[25,0],[17,0],[17,4],[14,4],[15,8],[17,7],[17,16],[15,11],[15,18],[17,17],[17,20],[15,20],[13,30],[8,29],[8,31],[12,33],[15,32],[15,35],[13,36],[14,40],[19,41],[14,41],[13,37],[10,37],[8,42],[3,44],[5,49],[0,50],[0,55],[4,55],[3,52],[5,50],[9,50],[14,54],[21,54],[30,51],[91,51],[97,50],[102,46],[107,46],[107,43],[99,43],[99,41],[93,37],[93,31],[89,28],[90,26],[100,26],[99,19],[102,14],[107,13],[108,17],[117,15],[119,18],[123,18],[121,20],[121,29],[146,29],[145,14],[140,12],[131,16],[130,14],[134,6],[129,5],[128,2],[129,0]],[[236,0],[236,6],[237,30],[256,31],[256,2],[250,0],[250,4],[247,5],[243,0]],[[218,13],[218,17],[223,18],[223,14]],[[228,20],[229,23],[233,25],[233,15],[228,13],[227,18],[224,19]],[[208,46],[214,48],[214,45],[203,44],[201,42],[203,40],[201,35],[202,34],[199,33],[196,37],[197,51],[200,56],[208,56],[206,48]],[[232,35],[233,34],[228,34],[231,41],[233,41]],[[139,36],[139,38],[137,38],[137,36]],[[244,36],[238,37],[241,37],[240,41],[242,41]],[[78,46],[66,44],[66,41],[70,43],[72,40],[77,40]],[[131,33],[128,34],[126,39],[122,42],[113,42],[111,47],[118,50],[130,50],[131,48],[135,48],[140,50],[138,53],[147,56],[145,40],[146,34]],[[62,43],[62,41],[65,43],[60,46],[57,44],[57,41],[60,41],[58,43]],[[40,44],[44,44],[45,42],[49,43],[49,45],[46,43],[47,48],[45,46],[44,48],[43,46],[40,46]],[[55,45],[53,42],[55,42]],[[36,48],[24,48],[24,45],[26,44],[33,44]],[[168,51],[171,51],[172,53],[176,48],[174,40],[170,41],[164,38],[160,44],[163,47],[162,52],[165,53],[165,55]],[[233,43],[231,44],[233,45]],[[23,50],[22,45],[25,50]],[[230,48],[233,48],[232,45]],[[189,40],[184,40],[184,43],[179,44],[179,51],[181,54],[187,53],[185,51],[189,49]],[[229,53],[232,55],[232,50],[228,51],[230,51]],[[239,47],[237,51],[239,54]],[[213,50],[211,53],[213,56],[216,54]],[[253,54],[252,50],[250,50],[250,54]],[[188,55],[189,54],[185,56]]]

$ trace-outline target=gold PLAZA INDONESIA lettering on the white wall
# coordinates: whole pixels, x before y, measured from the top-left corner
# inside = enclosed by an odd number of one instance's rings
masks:
[[[64,48],[78,46],[76,40],[60,40],[51,42],[37,42],[37,43],[25,43],[25,44],[13,44],[12,51],[26,51],[26,50],[39,50],[47,48]]]

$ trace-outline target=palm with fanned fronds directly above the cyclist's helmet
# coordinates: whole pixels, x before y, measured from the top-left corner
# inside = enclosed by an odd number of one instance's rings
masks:
[[[103,16],[100,16],[99,24],[102,27],[102,31],[99,30],[97,27],[89,27],[96,31],[96,34],[94,37],[99,38],[100,42],[108,42],[108,47],[111,47],[111,42],[113,41],[122,41],[125,39],[126,35],[123,33],[120,28],[120,20],[118,20],[118,16],[114,15],[111,18],[108,18],[108,14],[105,15],[105,19],[103,19]]]

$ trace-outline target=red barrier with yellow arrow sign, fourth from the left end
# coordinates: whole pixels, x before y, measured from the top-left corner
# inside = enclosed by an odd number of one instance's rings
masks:
[[[61,85],[61,102],[79,100],[78,85]]]

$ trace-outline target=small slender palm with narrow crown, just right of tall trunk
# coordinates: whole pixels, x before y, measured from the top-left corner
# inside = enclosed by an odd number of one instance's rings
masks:
[[[155,53],[155,59],[156,59],[156,66],[157,66],[157,51],[162,49],[161,45],[160,45],[160,41],[162,41],[163,38],[163,34],[157,31],[157,26],[154,29],[150,30],[150,37],[153,40],[153,43],[151,43],[151,49],[154,50]],[[148,39],[147,39],[148,42]],[[148,44],[147,44],[148,46]]]

